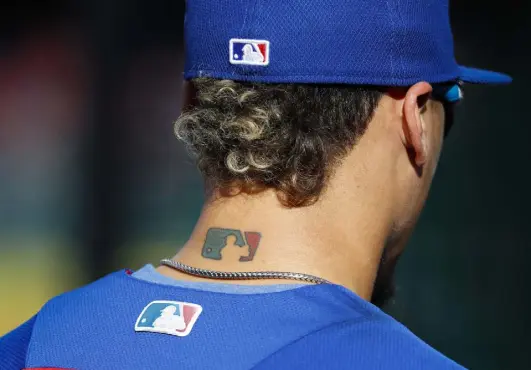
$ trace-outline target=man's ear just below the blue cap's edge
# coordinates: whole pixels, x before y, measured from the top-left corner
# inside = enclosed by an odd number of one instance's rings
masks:
[[[428,151],[422,113],[432,90],[432,86],[427,82],[419,82],[411,86],[406,92],[402,107],[404,144],[418,168],[422,168],[426,162]]]

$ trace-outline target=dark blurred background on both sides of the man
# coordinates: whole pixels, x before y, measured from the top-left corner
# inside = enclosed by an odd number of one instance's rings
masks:
[[[184,1],[0,8],[0,335],[52,296],[173,255],[202,183],[173,135]],[[386,310],[471,369],[528,369],[531,11],[453,1],[467,86]]]

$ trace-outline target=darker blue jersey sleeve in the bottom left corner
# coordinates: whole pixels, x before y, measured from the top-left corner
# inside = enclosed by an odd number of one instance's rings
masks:
[[[20,370],[26,365],[26,353],[37,316],[0,337],[0,370]]]

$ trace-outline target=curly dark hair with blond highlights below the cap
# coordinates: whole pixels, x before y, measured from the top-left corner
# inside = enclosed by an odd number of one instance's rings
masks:
[[[175,124],[207,189],[272,188],[287,207],[315,202],[365,132],[382,93],[374,87],[261,84],[198,78]]]

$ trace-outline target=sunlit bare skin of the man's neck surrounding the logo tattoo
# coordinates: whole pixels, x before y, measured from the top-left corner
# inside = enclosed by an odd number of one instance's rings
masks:
[[[315,275],[343,285],[370,300],[382,252],[393,228],[393,186],[397,160],[388,143],[368,130],[338,166],[319,200],[308,207],[283,207],[274,191],[215,197],[175,261],[226,272],[285,271]],[[382,141],[382,140],[380,140]],[[258,232],[261,240],[252,261],[240,262],[248,248],[233,246],[229,237],[222,259],[202,256],[210,228]],[[180,280],[204,280],[169,267],[159,272]],[[252,280],[217,282],[279,284],[298,281]]]

